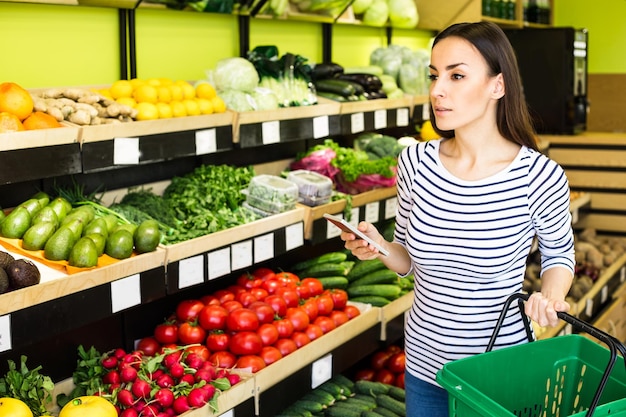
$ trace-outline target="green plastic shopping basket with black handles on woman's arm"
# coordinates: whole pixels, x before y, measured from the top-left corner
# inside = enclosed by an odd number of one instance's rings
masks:
[[[618,350],[626,358],[626,348],[576,317],[558,313],[609,349],[572,334],[491,351],[515,299],[531,336],[523,313],[527,298],[514,294],[507,300],[487,352],[447,363],[437,373],[448,392],[450,417],[626,417],[626,366],[613,366]]]

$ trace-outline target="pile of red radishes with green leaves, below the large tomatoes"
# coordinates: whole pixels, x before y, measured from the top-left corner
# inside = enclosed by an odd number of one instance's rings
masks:
[[[171,417],[211,402],[241,377],[208,361],[208,349],[191,346],[149,356],[137,349],[104,354],[102,382],[121,417]]]

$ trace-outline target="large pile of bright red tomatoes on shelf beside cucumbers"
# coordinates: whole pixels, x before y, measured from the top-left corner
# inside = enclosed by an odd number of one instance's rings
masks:
[[[199,344],[218,368],[257,372],[358,316],[347,301],[346,291],[324,290],[316,278],[257,268],[232,286],[181,301],[138,348]]]

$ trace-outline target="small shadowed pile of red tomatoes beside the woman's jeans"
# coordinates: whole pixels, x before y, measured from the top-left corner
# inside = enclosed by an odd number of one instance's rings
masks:
[[[369,358],[369,368],[359,370],[354,379],[384,382],[404,388],[404,350],[396,345],[379,350]]]

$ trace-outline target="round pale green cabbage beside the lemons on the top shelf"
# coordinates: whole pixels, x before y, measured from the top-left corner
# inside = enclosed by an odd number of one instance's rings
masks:
[[[259,85],[259,74],[254,65],[245,58],[224,58],[215,66],[213,82],[218,91],[252,92]]]

